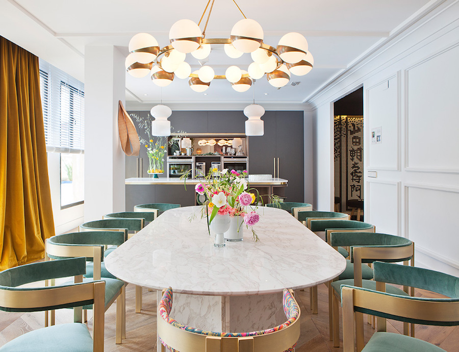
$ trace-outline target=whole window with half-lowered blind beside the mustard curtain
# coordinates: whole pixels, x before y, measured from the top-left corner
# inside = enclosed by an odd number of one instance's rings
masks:
[[[84,85],[40,59],[46,150],[60,153],[61,209],[84,202]]]

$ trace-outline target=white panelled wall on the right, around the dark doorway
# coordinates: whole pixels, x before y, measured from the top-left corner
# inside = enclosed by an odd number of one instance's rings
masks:
[[[316,107],[315,208],[333,206],[333,102],[363,84],[365,221],[413,240],[417,266],[459,276],[458,18],[459,2],[445,1],[309,103]],[[370,141],[376,127],[381,144]]]

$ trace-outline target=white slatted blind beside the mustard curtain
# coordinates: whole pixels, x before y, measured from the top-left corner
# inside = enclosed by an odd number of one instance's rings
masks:
[[[84,153],[84,85],[46,61],[39,61],[46,150]]]

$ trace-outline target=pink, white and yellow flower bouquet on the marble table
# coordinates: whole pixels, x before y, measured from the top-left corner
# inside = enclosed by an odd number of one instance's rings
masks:
[[[242,216],[244,223],[252,230],[253,239],[258,241],[259,238],[252,226],[260,220],[260,216],[255,212],[257,206],[251,206],[251,204],[259,198],[259,195],[247,192],[249,191],[245,178],[247,171],[237,172],[228,169],[217,171],[216,168],[210,169],[205,181],[195,186],[196,193],[205,194],[207,197],[206,202],[202,205],[202,217],[208,218],[209,225],[217,214],[230,214],[231,217]],[[215,173],[217,173],[216,177],[213,176]]]

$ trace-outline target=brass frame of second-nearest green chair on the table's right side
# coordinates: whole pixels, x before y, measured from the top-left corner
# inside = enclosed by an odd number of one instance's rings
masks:
[[[333,247],[338,250],[338,247]],[[401,262],[403,259],[410,258],[409,260],[403,261],[404,265],[414,266],[414,254],[415,246],[414,242],[407,245],[394,245],[394,246],[352,246],[350,248],[352,252],[352,258],[354,263],[354,285],[356,287],[362,287],[362,264],[368,263],[369,261],[389,261],[389,262]],[[334,279],[333,281],[335,281]],[[414,296],[414,287],[403,286],[403,291]],[[328,305],[331,303],[331,317],[329,319],[329,329],[333,337],[333,346],[340,346],[340,322],[339,322],[339,303],[341,301],[340,292],[336,292],[331,285],[329,285],[328,291]],[[358,319],[363,319],[362,315]],[[360,322],[359,322],[360,323]],[[409,335],[408,323],[403,323],[403,334]],[[411,324],[411,336],[414,337],[414,324]]]

